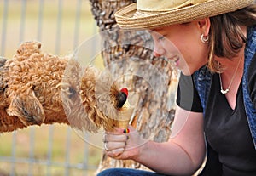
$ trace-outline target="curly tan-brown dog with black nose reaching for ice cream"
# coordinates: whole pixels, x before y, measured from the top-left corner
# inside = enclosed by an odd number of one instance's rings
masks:
[[[111,130],[127,94],[106,72],[40,48],[22,43],[11,60],[0,61],[0,133],[55,122]]]

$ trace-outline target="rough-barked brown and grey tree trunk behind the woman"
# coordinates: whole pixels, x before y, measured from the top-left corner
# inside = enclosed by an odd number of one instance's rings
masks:
[[[104,65],[132,93],[129,97],[136,105],[132,125],[144,138],[163,142],[171,134],[177,71],[165,58],[154,57],[147,31],[125,31],[116,25],[114,13],[131,3],[134,1],[90,0],[101,32]],[[114,160],[103,152],[98,172],[109,167],[147,169],[137,162]]]

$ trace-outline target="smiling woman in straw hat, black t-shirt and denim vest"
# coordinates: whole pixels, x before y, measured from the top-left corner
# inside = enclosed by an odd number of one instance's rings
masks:
[[[206,151],[201,175],[256,175],[256,7],[252,3],[138,0],[116,13],[123,28],[152,30],[154,55],[165,56],[181,70],[174,131],[185,123],[166,143],[146,141],[133,128],[129,138],[123,129],[106,133],[108,156],[132,159],[155,173],[113,168],[99,176],[192,175]],[[193,99],[188,99],[191,89]]]

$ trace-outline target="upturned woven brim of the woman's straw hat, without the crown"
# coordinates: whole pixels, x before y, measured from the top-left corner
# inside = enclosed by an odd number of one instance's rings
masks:
[[[181,9],[154,13],[137,10],[137,3],[132,3],[117,11],[115,20],[125,29],[152,29],[225,14],[245,8],[252,3],[253,0],[210,0]]]

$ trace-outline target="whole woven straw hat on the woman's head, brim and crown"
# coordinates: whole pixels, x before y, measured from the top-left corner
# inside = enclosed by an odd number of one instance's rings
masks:
[[[242,9],[253,0],[137,0],[115,14],[122,28],[155,28]]]

